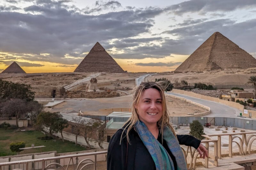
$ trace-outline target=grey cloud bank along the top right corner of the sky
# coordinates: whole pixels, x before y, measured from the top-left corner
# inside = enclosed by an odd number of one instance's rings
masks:
[[[180,4],[171,5],[165,8],[176,15],[188,12],[215,12],[215,11],[234,11],[242,8],[253,8],[256,6],[255,0],[190,0]]]

